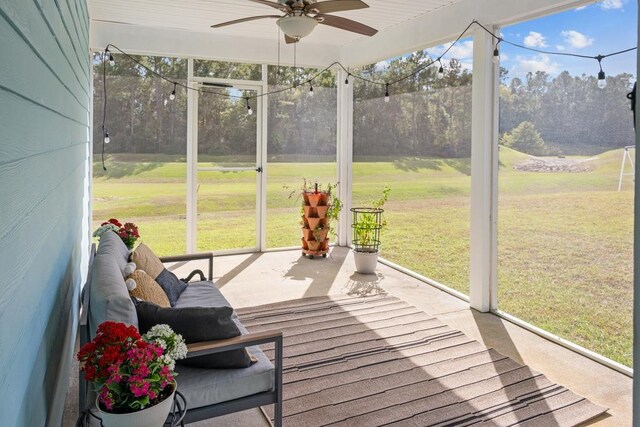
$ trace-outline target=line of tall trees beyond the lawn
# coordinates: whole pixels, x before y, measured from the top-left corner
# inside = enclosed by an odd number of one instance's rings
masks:
[[[135,57],[151,70],[186,84],[187,61],[179,58]],[[426,156],[464,158],[471,153],[472,74],[458,60],[414,73],[431,62],[426,51],[396,58],[385,67],[369,65],[354,73],[385,86],[351,78],[354,85],[353,135],[356,156]],[[195,75],[261,80],[261,67],[195,61]],[[106,81],[103,73],[106,71]],[[313,82],[316,69],[268,67],[269,91],[295,89],[269,95],[268,154],[271,157],[335,156],[337,138],[336,73],[327,71]],[[104,83],[107,88],[106,127],[111,144],[107,153],[170,154],[186,156],[187,93],[134,61],[116,55],[106,66],[94,58],[94,152],[102,144]],[[607,77],[607,87],[597,88],[595,76],[557,76],[529,73],[509,78],[501,70],[501,141],[518,146],[514,138],[539,135],[531,154],[595,154],[633,142],[633,126],[626,94],[633,76]],[[252,156],[255,152],[256,115],[247,114],[245,96],[255,92],[203,87],[198,102],[198,151],[201,156]],[[207,93],[205,93],[207,92]],[[220,96],[228,93],[239,98]],[[258,99],[249,99],[256,111]],[[526,124],[523,125],[523,123]],[[526,132],[518,129],[524,126]],[[515,136],[514,136],[515,135]],[[520,148],[527,150],[526,145]],[[294,158],[290,157],[290,158]]]

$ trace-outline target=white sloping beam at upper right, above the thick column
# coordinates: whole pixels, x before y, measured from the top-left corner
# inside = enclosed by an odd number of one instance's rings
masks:
[[[474,19],[490,26],[504,26],[593,0],[463,0],[432,13],[385,29],[342,47],[341,62],[358,67],[451,42]],[[469,34],[471,35],[471,34]]]

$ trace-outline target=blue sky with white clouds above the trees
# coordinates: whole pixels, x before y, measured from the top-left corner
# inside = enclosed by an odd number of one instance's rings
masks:
[[[521,22],[502,28],[505,40],[541,50],[581,55],[606,55],[637,46],[638,8],[636,0],[602,0],[589,6]],[[427,49],[439,55],[448,45]],[[446,57],[460,59],[471,67],[473,45],[461,40]],[[527,72],[546,71],[555,76],[567,70],[572,75],[598,73],[595,60],[544,55],[506,43],[500,44],[501,66],[508,77],[524,78]],[[446,58],[445,57],[445,58]],[[602,61],[607,75],[622,72],[636,74],[636,52],[629,52]]]

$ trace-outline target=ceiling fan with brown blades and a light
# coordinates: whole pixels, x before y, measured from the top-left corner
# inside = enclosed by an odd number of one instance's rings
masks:
[[[378,32],[375,28],[371,28],[360,22],[351,19],[342,18],[340,16],[327,15],[331,12],[342,12],[345,10],[364,9],[369,7],[361,0],[278,0],[273,2],[269,0],[249,0],[254,3],[270,6],[284,12],[284,15],[260,15],[250,16],[248,18],[236,19],[234,21],[222,22],[212,25],[211,28],[226,27],[227,25],[239,24],[241,22],[255,21],[257,19],[277,18],[276,24],[285,34],[284,38],[287,43],[296,43],[302,37],[311,34],[311,31],[318,24],[329,25],[331,27],[340,28],[354,33],[363,34],[365,36],[373,36]]]

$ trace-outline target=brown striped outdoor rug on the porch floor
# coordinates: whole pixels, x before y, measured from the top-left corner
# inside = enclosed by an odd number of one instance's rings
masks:
[[[238,315],[284,333],[285,426],[573,426],[606,411],[392,296]]]

